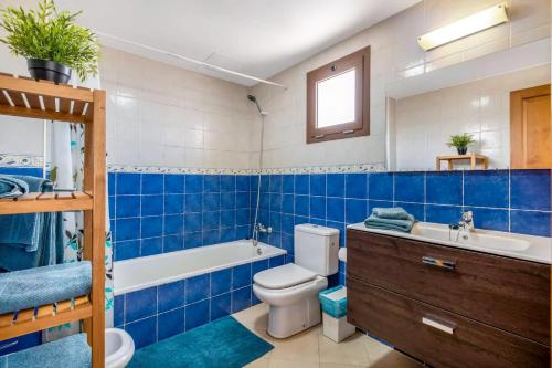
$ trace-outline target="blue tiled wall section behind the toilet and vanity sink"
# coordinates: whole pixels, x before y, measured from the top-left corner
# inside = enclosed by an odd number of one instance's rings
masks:
[[[437,223],[457,222],[463,210],[473,210],[477,228],[551,235],[550,170],[270,175],[262,177],[265,181],[276,185],[262,185],[262,199],[270,200],[262,201],[259,218],[274,233],[262,240],[286,249],[290,262],[294,225],[339,229],[344,246],[346,227],[364,220],[374,207],[401,206],[421,221]],[[253,213],[257,178],[251,182]],[[341,263],[330,285],[343,282]]]

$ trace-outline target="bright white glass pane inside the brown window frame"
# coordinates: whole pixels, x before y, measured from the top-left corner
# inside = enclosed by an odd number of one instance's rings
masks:
[[[317,127],[354,122],[355,81],[357,71],[352,69],[316,84]]]

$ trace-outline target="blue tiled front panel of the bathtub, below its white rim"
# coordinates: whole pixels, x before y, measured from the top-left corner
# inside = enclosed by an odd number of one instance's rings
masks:
[[[114,325],[132,336],[136,348],[190,330],[258,304],[253,275],[284,262],[278,255],[117,295]]]

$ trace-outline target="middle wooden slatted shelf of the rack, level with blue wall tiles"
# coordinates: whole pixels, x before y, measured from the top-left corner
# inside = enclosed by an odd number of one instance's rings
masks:
[[[0,199],[0,214],[86,211],[92,207],[92,196],[82,191],[28,193],[19,198]]]

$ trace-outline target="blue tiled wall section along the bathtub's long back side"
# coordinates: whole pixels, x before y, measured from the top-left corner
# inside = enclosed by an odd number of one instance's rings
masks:
[[[109,172],[108,181],[115,261],[251,235],[250,176]]]

